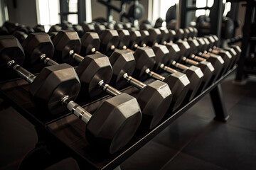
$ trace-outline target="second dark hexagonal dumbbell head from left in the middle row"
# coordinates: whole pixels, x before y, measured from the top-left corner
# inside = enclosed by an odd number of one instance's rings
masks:
[[[109,83],[112,77],[112,67],[106,55],[87,55],[76,69],[81,81],[81,94],[97,96],[102,92],[98,88],[99,81]]]

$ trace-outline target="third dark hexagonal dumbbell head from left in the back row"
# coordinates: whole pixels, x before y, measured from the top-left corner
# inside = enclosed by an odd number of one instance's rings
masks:
[[[70,50],[79,53],[81,50],[81,42],[78,33],[73,30],[60,30],[53,38],[55,53],[53,60],[59,63],[66,62],[73,65],[74,60],[70,57]]]

